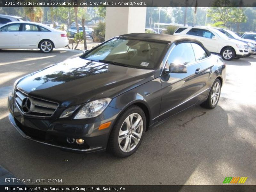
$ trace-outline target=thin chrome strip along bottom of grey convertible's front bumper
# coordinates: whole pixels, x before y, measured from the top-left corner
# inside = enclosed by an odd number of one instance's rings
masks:
[[[43,142],[43,141],[39,141],[39,140],[35,140],[35,139],[32,139],[31,137],[29,137],[28,135],[26,135],[24,132],[22,132],[20,130],[20,128],[16,125],[15,121],[14,121],[14,118],[12,116],[11,113],[9,113],[9,120],[11,122],[11,124],[14,126],[14,128],[25,138],[25,139],[28,139],[28,140],[32,140],[32,141],[35,141],[35,142],[38,142],[38,143],[42,143],[42,144],[45,144],[45,145],[49,145],[49,146],[52,146],[52,147],[57,147],[57,148],[62,148],[62,149],[68,149],[68,150],[73,150],[73,151],[80,151],[80,152],[90,152],[90,151],[94,151],[94,150],[98,150],[98,149],[101,149],[102,147],[96,147],[96,148],[90,148],[90,149],[75,149],[75,148],[68,148],[68,147],[62,147],[62,146],[59,146],[59,145],[53,145],[53,144],[50,144],[50,143],[46,143],[46,142]]]

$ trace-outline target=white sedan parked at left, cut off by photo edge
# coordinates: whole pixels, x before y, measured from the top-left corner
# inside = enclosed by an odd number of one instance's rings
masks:
[[[67,45],[66,31],[40,23],[10,22],[0,28],[0,49],[40,49],[43,53],[50,53],[53,48]]]

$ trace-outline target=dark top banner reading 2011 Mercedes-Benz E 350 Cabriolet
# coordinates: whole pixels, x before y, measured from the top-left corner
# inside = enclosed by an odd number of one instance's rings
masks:
[[[255,0],[0,0],[0,7],[256,7]]]

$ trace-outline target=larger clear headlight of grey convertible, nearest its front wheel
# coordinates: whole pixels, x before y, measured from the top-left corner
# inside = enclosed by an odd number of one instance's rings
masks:
[[[99,99],[86,103],[76,114],[74,119],[86,119],[99,116],[110,103],[110,98]]]

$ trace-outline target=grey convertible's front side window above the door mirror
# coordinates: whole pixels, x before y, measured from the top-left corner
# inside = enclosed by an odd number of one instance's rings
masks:
[[[173,48],[169,58],[169,65],[175,64],[183,64],[188,65],[190,63],[195,62],[195,55],[193,48],[190,43],[181,43]]]

